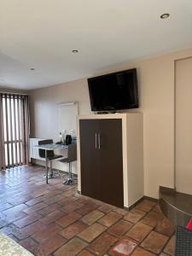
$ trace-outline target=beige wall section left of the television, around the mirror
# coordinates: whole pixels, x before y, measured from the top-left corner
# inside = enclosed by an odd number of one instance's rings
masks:
[[[31,137],[59,139],[58,103],[79,102],[79,113],[90,113],[86,79],[51,86],[30,93]]]

